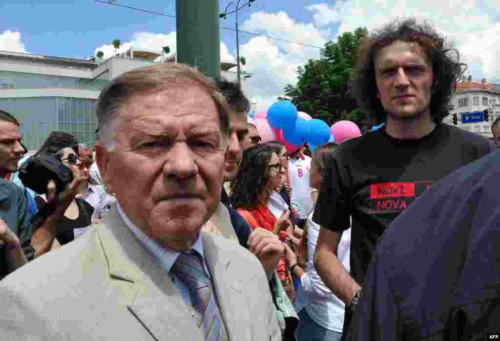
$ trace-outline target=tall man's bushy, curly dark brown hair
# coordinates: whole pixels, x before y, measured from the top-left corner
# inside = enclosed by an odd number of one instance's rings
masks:
[[[439,123],[449,114],[448,104],[453,95],[453,85],[460,79],[467,65],[459,62],[458,50],[445,44],[445,38],[441,37],[430,24],[427,22],[417,24],[415,19],[394,21],[367,38],[361,39],[358,62],[351,82],[351,91],[356,96],[359,109],[375,124],[380,124],[386,117],[382,103],[377,98],[374,59],[381,48],[396,40],[417,43],[427,54],[433,72],[430,114],[432,120]],[[448,55],[450,51],[456,53],[456,60]]]

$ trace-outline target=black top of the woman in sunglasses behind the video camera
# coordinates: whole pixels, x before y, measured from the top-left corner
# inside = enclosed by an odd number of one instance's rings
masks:
[[[41,209],[41,207],[43,207],[46,203],[46,201],[40,196],[35,196],[35,201],[38,205],[38,209]],[[78,206],[78,217],[76,219],[69,219],[62,216],[56,221],[57,234],[55,237],[61,245],[74,240],[74,228],[87,227],[92,223],[92,205],[82,198],[76,198],[75,201]]]

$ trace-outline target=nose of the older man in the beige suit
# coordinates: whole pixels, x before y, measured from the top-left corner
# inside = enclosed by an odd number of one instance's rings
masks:
[[[196,175],[198,166],[194,161],[193,151],[185,142],[176,143],[168,151],[163,171],[166,176],[175,176],[182,180]]]

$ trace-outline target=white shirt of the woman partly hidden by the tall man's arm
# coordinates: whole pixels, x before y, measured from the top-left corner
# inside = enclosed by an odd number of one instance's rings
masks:
[[[319,235],[319,225],[312,221],[313,213],[311,212],[307,217],[308,259],[305,264],[305,273],[300,277],[302,289],[306,296],[305,309],[317,324],[326,329],[342,332],[345,304],[323,283],[312,263]],[[350,228],[343,231],[337,251],[338,260],[347,272],[350,270],[349,256]]]

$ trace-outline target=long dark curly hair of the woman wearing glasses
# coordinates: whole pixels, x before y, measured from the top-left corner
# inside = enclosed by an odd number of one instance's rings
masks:
[[[243,151],[243,159],[231,183],[230,199],[235,208],[252,209],[258,206],[258,194],[267,182],[267,165],[274,150],[259,144]]]

